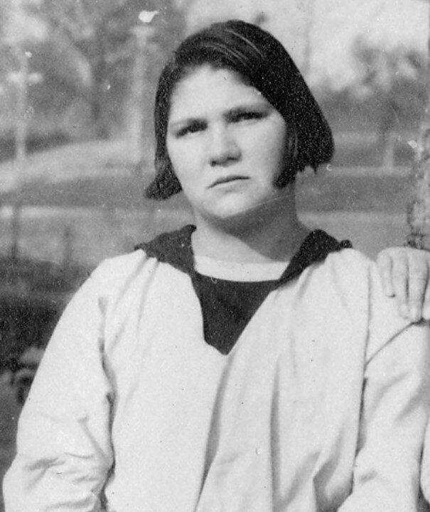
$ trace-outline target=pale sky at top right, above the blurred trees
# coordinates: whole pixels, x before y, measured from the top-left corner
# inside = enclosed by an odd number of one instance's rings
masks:
[[[263,26],[303,66],[303,34],[311,19],[311,82],[328,75],[339,86],[353,79],[350,48],[357,36],[382,45],[410,45],[426,51],[430,2],[426,0],[195,0],[190,28],[208,19],[243,18],[251,21],[264,11]]]

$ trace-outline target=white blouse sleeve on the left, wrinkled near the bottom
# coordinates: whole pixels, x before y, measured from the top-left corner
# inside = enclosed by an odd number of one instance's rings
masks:
[[[97,273],[60,318],[24,405],[4,479],[6,512],[102,510],[113,457]]]

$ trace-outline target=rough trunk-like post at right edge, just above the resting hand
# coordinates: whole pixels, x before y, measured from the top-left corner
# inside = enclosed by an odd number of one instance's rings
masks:
[[[417,249],[430,250],[430,38],[426,82],[427,103],[416,141],[412,166],[413,193],[407,212],[409,223],[407,244]]]

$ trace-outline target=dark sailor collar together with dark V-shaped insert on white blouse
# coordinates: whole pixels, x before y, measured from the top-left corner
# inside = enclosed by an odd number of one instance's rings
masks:
[[[190,276],[200,303],[205,342],[224,355],[230,354],[272,290],[298,277],[312,263],[323,261],[330,252],[351,247],[349,241],[339,242],[317,229],[306,236],[279,279],[225,280],[195,271],[191,244],[194,231],[195,226],[188,225],[176,232],[161,234],[136,249],[143,249],[146,256],[168,263]]]

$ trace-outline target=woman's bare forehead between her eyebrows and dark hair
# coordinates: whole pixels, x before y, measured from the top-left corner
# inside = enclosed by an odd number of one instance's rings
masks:
[[[173,89],[169,118],[198,117],[267,99],[247,85],[239,73],[203,65],[183,77]]]

